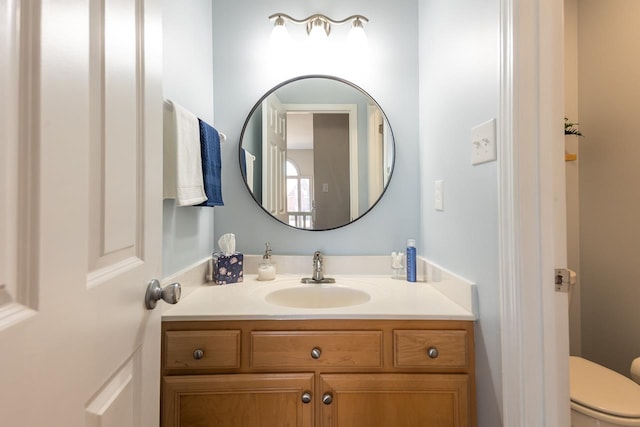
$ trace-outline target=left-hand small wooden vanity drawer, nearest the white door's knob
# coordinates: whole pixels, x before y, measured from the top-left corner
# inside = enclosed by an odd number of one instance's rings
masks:
[[[240,367],[240,331],[167,331],[166,369]]]

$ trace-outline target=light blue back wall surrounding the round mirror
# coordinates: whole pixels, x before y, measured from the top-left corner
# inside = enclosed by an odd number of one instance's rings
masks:
[[[237,247],[245,253],[262,253],[268,241],[274,254],[311,256],[315,250],[331,255],[389,254],[418,235],[417,11],[417,0],[213,2],[215,125],[229,137],[222,151],[225,206],[216,208],[217,236],[235,233]],[[293,62],[270,56],[272,23],[267,18],[276,12],[297,18],[314,13],[335,19],[367,16],[370,63],[335,55],[322,61],[295,57]],[[303,26],[288,28],[292,37],[306,37]],[[348,29],[334,27],[331,40],[344,41]],[[247,115],[266,91],[291,77],[318,73],[345,78],[369,92],[387,114],[397,147],[390,187],[376,208],[349,226],[323,232],[292,229],[256,205],[242,182],[237,142]]]

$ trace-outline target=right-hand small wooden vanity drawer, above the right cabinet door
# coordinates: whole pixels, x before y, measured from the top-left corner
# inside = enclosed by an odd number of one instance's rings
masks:
[[[468,368],[467,331],[395,330],[397,368]]]

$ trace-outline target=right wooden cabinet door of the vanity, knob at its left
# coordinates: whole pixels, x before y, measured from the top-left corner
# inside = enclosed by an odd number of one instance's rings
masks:
[[[320,376],[321,427],[471,426],[468,375]]]

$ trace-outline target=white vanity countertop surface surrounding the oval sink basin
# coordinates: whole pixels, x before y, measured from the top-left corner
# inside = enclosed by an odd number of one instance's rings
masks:
[[[337,308],[292,308],[265,301],[272,291],[290,287],[319,286],[300,283],[302,275],[278,275],[260,282],[247,275],[244,282],[202,285],[166,310],[165,321],[187,320],[286,320],[286,319],[434,319],[476,320],[476,315],[445,296],[429,283],[408,283],[388,276],[331,275],[335,284],[365,291],[370,300]],[[470,290],[471,292],[471,290]]]

